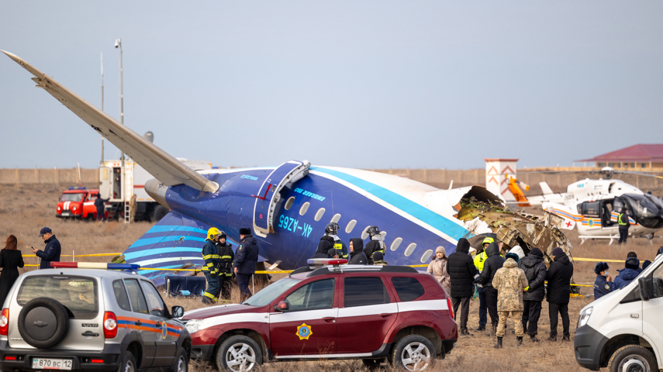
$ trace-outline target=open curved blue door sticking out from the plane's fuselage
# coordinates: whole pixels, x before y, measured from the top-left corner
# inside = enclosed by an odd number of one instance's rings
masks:
[[[269,173],[255,197],[253,208],[253,230],[260,236],[267,236],[272,229],[274,209],[280,200],[280,191],[288,183],[299,181],[308,175],[309,162],[290,160],[282,163]]]

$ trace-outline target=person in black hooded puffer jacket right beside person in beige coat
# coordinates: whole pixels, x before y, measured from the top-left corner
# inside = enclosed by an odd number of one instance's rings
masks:
[[[469,314],[469,300],[474,295],[474,281],[479,278],[477,267],[472,256],[469,256],[469,242],[460,238],[456,244],[455,252],[447,259],[447,273],[449,274],[452,291],[452,307],[454,319],[457,318],[460,306],[460,334],[473,336],[467,331],[467,316]]]

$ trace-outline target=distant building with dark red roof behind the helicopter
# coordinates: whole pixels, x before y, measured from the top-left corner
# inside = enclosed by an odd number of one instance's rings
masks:
[[[594,162],[597,168],[650,171],[663,168],[663,144],[637,144],[621,150],[575,162]]]

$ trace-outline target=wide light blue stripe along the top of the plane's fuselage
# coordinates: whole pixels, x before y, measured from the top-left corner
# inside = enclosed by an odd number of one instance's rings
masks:
[[[365,181],[353,175],[349,175],[347,173],[343,173],[340,171],[335,171],[333,169],[326,169],[320,167],[311,167],[310,169],[313,171],[319,171],[321,173],[327,173],[329,175],[333,175],[334,177],[349,182],[359,187],[360,189],[364,189],[365,191],[375,195],[375,197],[378,197],[379,199],[382,199],[383,201],[406,212],[407,214],[410,214],[414,218],[417,218],[418,220],[421,220],[422,222],[425,222],[426,224],[433,226],[434,228],[444,232],[444,234],[447,234],[448,236],[455,238],[456,240],[459,238],[463,238],[464,236],[471,235],[469,231],[463,228],[463,226],[460,226],[459,224],[456,224],[455,222],[449,220],[448,218],[440,216],[440,214],[437,214],[436,212],[433,212],[432,210],[427,209],[422,205],[414,203],[414,201],[411,201],[406,197],[398,195],[397,193],[394,193],[391,190],[375,185],[375,183],[371,183],[369,181]]]

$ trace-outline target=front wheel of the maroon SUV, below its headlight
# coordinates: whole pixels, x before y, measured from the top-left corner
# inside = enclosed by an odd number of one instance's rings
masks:
[[[262,363],[263,351],[247,336],[232,336],[216,353],[216,364],[224,371],[248,372]]]

